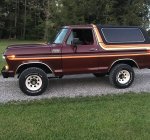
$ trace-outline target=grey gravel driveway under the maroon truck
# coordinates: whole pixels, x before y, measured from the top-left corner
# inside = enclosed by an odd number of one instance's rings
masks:
[[[135,70],[135,81],[130,88],[116,89],[109,83],[109,78],[96,78],[92,74],[64,76],[63,79],[51,79],[48,90],[38,97],[24,95],[14,78],[0,77],[0,103],[8,101],[34,100],[52,97],[95,96],[122,94],[125,92],[149,92],[150,70]]]

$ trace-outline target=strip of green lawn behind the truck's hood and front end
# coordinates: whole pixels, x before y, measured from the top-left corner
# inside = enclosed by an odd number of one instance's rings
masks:
[[[40,41],[21,41],[21,40],[0,40],[0,70],[4,66],[4,61],[2,60],[2,54],[6,47],[11,44],[26,44],[26,43],[39,43]]]

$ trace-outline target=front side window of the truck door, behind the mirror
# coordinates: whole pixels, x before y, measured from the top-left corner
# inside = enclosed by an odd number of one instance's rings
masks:
[[[81,45],[92,45],[94,43],[92,29],[73,29],[67,40],[68,45],[72,44],[73,38],[78,38]]]

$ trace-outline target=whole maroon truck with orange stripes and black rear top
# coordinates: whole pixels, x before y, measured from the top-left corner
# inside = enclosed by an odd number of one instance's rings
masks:
[[[17,75],[20,89],[31,96],[46,90],[48,78],[70,74],[109,75],[115,87],[127,88],[133,67],[150,68],[150,40],[140,27],[64,26],[52,44],[11,45],[3,58],[3,77]]]

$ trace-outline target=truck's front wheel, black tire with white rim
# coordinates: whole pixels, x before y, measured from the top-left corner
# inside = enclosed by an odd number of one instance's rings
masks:
[[[19,86],[26,95],[41,95],[48,86],[48,78],[42,69],[28,68],[21,73]]]

